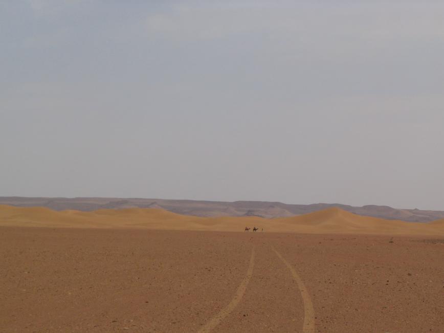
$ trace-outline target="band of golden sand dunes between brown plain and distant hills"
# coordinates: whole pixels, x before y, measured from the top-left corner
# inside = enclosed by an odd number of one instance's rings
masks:
[[[256,226],[259,231],[263,229],[267,232],[444,235],[444,220],[431,223],[408,223],[356,215],[339,208],[267,219],[257,216],[196,217],[152,208],[101,209],[81,212],[0,205],[0,226],[208,231],[243,231],[246,226]]]

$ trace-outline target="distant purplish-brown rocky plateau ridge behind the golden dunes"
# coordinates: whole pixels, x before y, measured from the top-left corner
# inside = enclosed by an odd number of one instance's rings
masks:
[[[396,209],[389,206],[366,205],[354,207],[342,204],[293,205],[259,201],[194,201],[159,198],[105,198],[105,197],[7,197],[0,196],[0,205],[16,207],[46,207],[61,211],[67,209],[92,212],[98,209],[159,208],[192,216],[259,216],[265,218],[289,217],[338,207],[350,213],[409,222],[429,222],[444,218],[444,211]]]

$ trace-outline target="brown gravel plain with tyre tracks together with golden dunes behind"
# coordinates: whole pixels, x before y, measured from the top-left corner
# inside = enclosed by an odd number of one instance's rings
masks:
[[[2,332],[443,332],[444,221],[0,206],[0,295]]]

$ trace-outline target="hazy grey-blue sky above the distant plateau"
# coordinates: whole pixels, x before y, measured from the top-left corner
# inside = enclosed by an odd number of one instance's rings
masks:
[[[442,1],[0,1],[0,196],[444,210]]]

